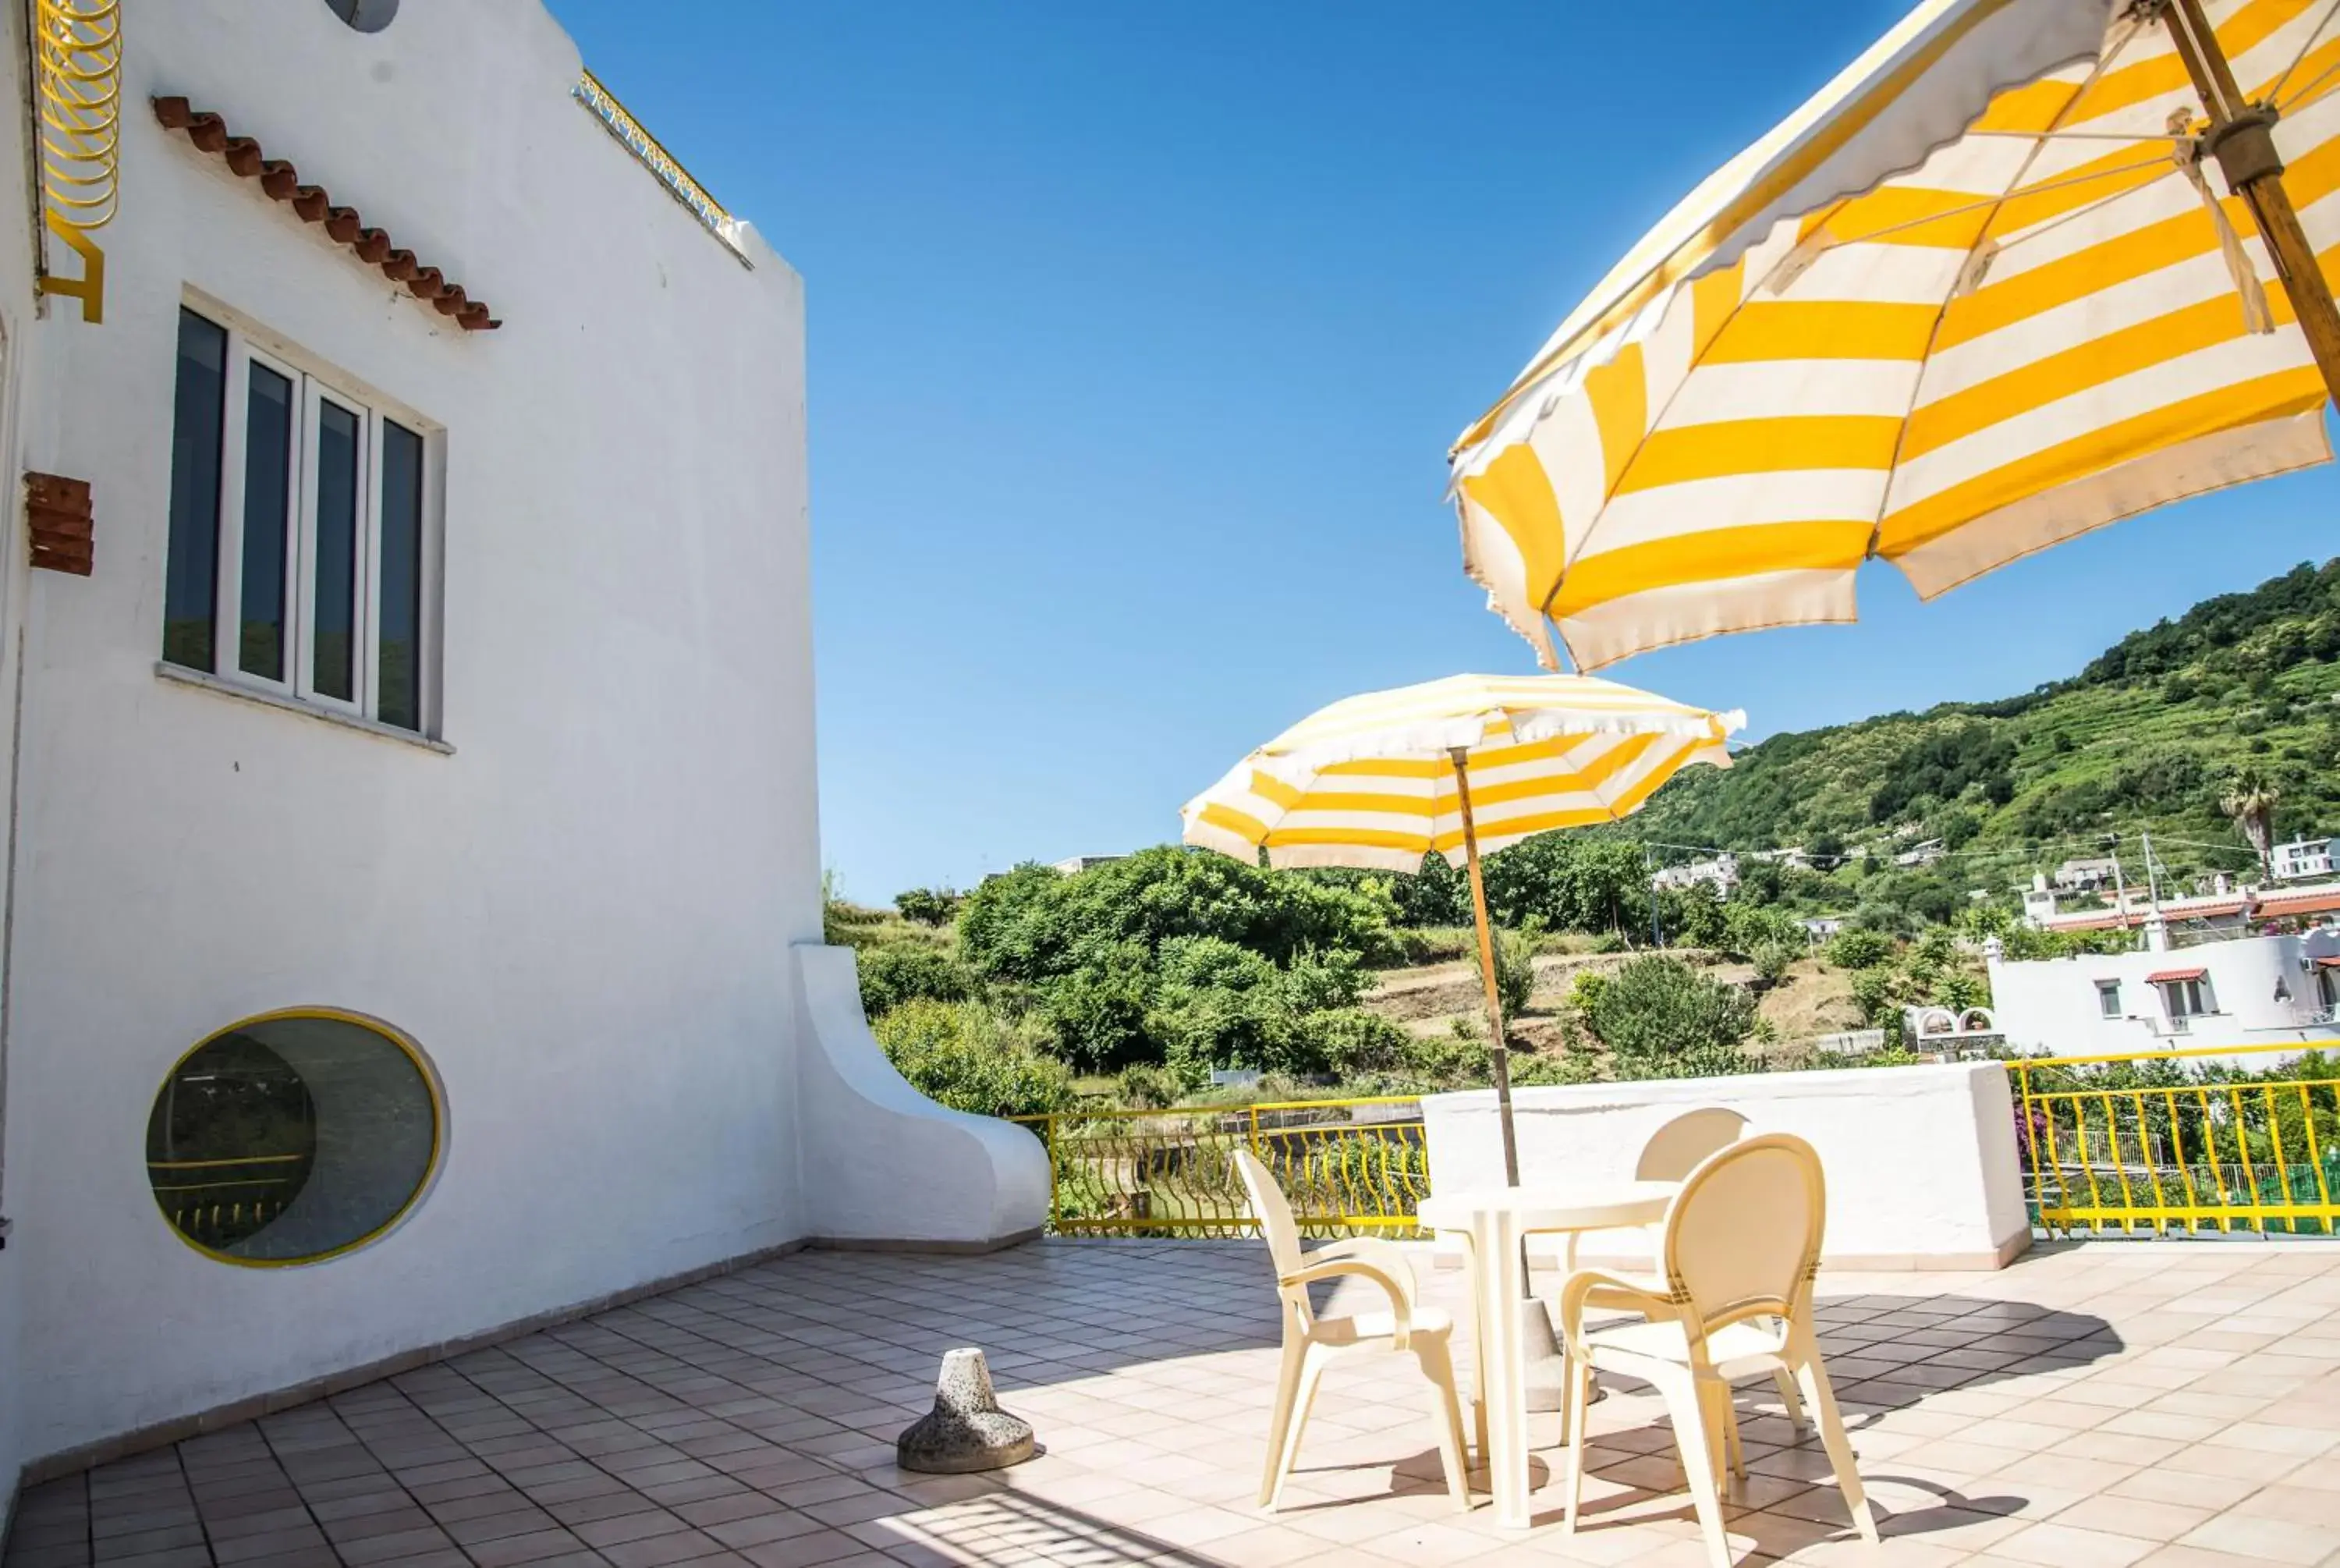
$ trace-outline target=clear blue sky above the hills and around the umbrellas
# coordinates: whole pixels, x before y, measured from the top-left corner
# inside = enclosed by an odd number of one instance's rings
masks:
[[[805,274],[821,838],[863,901],[1163,843],[1322,702],[1533,669],[1448,440],[1905,5],[550,2]],[[1608,674],[1750,737],[1998,697],[2335,517],[2324,468]]]

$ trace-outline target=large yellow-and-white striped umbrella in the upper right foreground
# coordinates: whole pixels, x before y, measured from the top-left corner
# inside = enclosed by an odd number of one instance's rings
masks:
[[[1460,438],[1465,569],[1547,669],[1933,597],[2331,459],[2335,278],[2340,0],[1926,0]]]

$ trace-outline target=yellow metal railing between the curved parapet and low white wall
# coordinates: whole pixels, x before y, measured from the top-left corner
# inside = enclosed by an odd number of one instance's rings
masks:
[[[1430,1149],[1413,1095],[1016,1121],[1048,1144],[1058,1236],[1252,1236],[1236,1149],[1275,1172],[1303,1236],[1420,1236]]]

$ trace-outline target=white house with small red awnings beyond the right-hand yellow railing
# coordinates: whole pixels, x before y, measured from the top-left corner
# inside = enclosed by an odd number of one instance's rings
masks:
[[[2333,929],[2026,962],[1984,950],[1998,1032],[2031,1055],[2340,1041]]]

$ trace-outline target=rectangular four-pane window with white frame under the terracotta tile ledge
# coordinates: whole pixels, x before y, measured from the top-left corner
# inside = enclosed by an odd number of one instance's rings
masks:
[[[419,421],[178,314],[164,662],[426,733]]]

